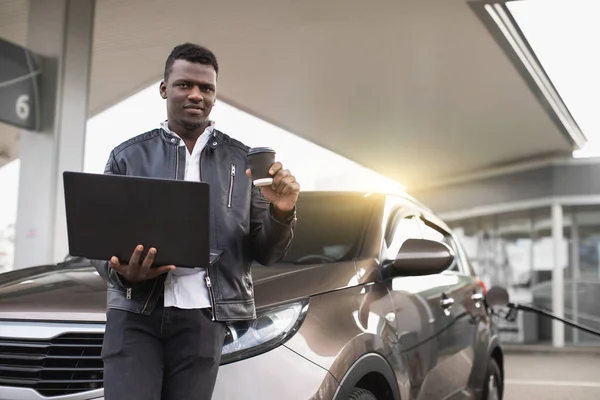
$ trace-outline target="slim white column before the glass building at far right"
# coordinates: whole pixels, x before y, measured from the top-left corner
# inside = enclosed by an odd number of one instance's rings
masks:
[[[554,270],[552,271],[552,312],[560,317],[565,316],[565,286],[564,272],[561,260],[563,249],[563,208],[559,203],[552,204],[552,241]],[[552,345],[565,345],[565,326],[562,322],[552,321]]]

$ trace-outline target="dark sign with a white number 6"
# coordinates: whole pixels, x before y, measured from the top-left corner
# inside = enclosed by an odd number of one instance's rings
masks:
[[[0,38],[0,121],[38,130],[39,74],[29,50]]]

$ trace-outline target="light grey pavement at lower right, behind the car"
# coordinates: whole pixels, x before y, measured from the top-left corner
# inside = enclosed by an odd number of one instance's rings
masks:
[[[598,352],[510,353],[505,400],[600,400]]]

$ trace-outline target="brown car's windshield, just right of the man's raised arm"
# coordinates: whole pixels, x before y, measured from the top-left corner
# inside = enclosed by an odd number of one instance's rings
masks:
[[[362,195],[300,195],[298,223],[283,263],[311,264],[352,259],[372,202]]]

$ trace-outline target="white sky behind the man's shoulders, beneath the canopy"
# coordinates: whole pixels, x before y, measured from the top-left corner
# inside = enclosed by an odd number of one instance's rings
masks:
[[[157,82],[119,105],[91,118],[85,147],[85,172],[103,172],[110,151],[139,133],[158,127],[167,118],[165,100]],[[404,187],[389,178],[264,122],[222,101],[217,101],[211,119],[215,127],[251,147],[269,146],[276,158],[296,176],[304,190],[391,190]],[[119,129],[115,129],[116,123]],[[343,176],[351,177],[345,179]],[[339,179],[338,179],[339,178]]]

